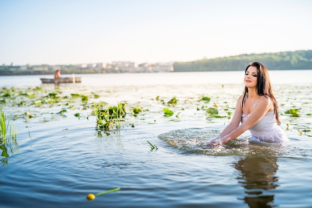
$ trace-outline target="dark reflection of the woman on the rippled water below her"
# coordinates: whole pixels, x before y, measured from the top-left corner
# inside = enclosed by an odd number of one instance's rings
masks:
[[[276,189],[278,177],[275,176],[278,165],[277,158],[246,157],[233,164],[240,171],[236,178],[245,188],[248,195],[244,199],[250,208],[272,208],[274,195],[265,194],[266,190]]]

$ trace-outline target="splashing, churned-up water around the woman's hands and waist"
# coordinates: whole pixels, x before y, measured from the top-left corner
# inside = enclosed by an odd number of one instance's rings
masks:
[[[281,156],[285,153],[284,143],[265,143],[250,141],[241,136],[222,146],[213,146],[211,140],[218,136],[221,129],[186,128],[168,131],[158,135],[182,153],[201,153],[207,155],[237,156]]]

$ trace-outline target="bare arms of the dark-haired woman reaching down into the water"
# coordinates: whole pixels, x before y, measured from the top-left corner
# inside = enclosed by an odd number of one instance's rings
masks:
[[[236,105],[236,107],[237,107],[237,105]],[[248,116],[246,121],[239,126],[238,125],[236,126],[237,121],[235,121],[234,122],[235,125],[232,125],[232,127],[229,127],[227,131],[225,131],[226,129],[223,130],[224,133],[222,132],[221,133],[222,135],[221,134],[219,135],[222,137],[219,137],[220,139],[218,139],[213,145],[224,144],[226,142],[229,142],[229,141],[237,138],[238,136],[243,134],[246,130],[248,130],[250,127],[254,126],[270,110],[271,107],[272,107],[272,101],[270,99],[268,99],[267,97],[262,96],[260,98],[259,103],[256,105],[256,107],[250,113],[250,115]],[[240,109],[241,109],[241,107],[240,107]],[[240,112],[240,116],[241,116],[242,110],[238,110],[238,112]],[[235,110],[235,114],[236,114],[236,110]],[[233,119],[236,120],[238,118],[236,118],[235,116],[238,116],[238,115],[235,115],[235,114],[234,114]],[[226,134],[226,133],[228,133],[228,134]]]

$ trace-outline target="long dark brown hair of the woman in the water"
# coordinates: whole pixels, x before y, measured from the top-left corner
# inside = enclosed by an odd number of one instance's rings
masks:
[[[272,100],[273,106],[274,106],[274,113],[275,113],[276,122],[278,125],[280,125],[281,121],[279,118],[279,106],[278,106],[277,101],[276,101],[276,99],[273,95],[273,92],[272,92],[272,86],[271,86],[271,81],[270,81],[268,69],[265,66],[263,66],[261,63],[255,61],[255,62],[250,63],[246,67],[245,74],[246,74],[247,69],[250,66],[254,66],[257,68],[257,87],[256,87],[257,95],[267,96]],[[247,93],[248,93],[248,88],[245,86],[242,107],[244,106],[244,101],[245,101],[245,97],[246,97]]]

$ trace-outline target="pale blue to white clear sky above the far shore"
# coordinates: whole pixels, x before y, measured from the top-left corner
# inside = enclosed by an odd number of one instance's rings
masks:
[[[0,65],[312,50],[311,0],[0,0]]]

